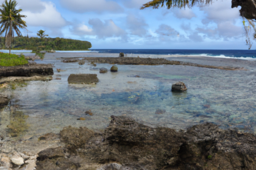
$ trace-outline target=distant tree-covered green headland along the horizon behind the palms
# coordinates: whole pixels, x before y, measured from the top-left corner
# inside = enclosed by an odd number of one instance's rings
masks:
[[[0,48],[5,49],[5,38],[0,37]],[[41,50],[88,50],[91,42],[65,38],[27,38],[15,37],[12,41],[12,49],[27,49],[34,52]]]

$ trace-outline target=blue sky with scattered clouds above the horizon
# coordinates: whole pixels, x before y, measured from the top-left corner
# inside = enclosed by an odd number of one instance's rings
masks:
[[[30,37],[42,29],[51,38],[90,41],[91,49],[248,49],[231,0],[169,10],[140,10],[150,0],[16,1]]]

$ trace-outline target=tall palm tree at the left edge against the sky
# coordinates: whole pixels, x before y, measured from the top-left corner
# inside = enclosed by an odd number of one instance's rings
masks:
[[[14,36],[13,30],[15,30],[17,36],[22,36],[20,29],[26,29],[26,22],[22,18],[26,18],[26,15],[20,15],[21,9],[17,10],[15,7],[18,3],[13,0],[5,0],[0,5],[0,34],[5,32],[5,47],[9,49],[9,55],[12,44],[12,36]],[[1,8],[2,7],[2,8]]]

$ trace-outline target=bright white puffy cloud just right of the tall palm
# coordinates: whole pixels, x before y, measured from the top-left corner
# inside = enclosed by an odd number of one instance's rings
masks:
[[[41,13],[33,13],[24,11],[23,15],[27,15],[25,21],[27,25],[38,27],[60,28],[67,23],[62,15],[57,12],[55,5],[52,2],[41,2],[44,5],[44,10]]]

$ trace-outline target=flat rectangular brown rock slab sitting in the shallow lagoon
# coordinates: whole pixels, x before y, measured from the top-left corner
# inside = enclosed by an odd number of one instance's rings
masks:
[[[98,83],[96,74],[71,74],[68,77],[69,84],[92,84]]]

